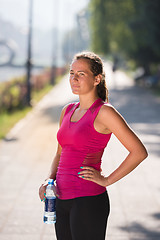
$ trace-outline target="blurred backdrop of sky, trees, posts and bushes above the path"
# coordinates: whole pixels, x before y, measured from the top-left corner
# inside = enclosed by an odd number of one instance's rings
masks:
[[[83,50],[159,92],[159,10],[158,0],[0,0],[0,113],[33,106]]]

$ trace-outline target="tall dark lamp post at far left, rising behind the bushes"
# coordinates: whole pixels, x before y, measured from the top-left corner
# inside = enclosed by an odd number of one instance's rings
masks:
[[[29,0],[29,24],[28,24],[28,50],[27,50],[27,62],[26,62],[26,68],[27,68],[27,96],[26,101],[27,105],[31,106],[31,68],[32,68],[32,48],[31,48],[31,42],[32,42],[32,12],[33,12],[33,0]]]

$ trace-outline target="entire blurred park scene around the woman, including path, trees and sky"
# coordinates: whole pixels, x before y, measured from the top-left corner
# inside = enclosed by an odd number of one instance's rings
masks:
[[[0,239],[55,239],[38,188],[56,151],[75,53],[104,61],[109,100],[149,160],[109,188],[109,240],[160,239],[160,1],[0,0]],[[113,136],[108,175],[126,156]]]

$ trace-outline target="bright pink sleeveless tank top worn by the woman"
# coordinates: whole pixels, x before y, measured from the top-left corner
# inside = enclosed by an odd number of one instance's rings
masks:
[[[111,137],[111,134],[99,133],[94,128],[94,120],[104,102],[97,99],[79,121],[71,122],[71,116],[79,104],[69,104],[57,133],[58,142],[62,146],[56,175],[60,199],[94,196],[106,191],[105,187],[78,175],[82,166],[100,170],[101,157]]]

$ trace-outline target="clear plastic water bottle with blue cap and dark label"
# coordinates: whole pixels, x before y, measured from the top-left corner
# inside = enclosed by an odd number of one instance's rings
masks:
[[[53,185],[53,179],[49,179],[46,187],[46,200],[44,209],[44,222],[47,224],[56,222],[56,196],[53,191]]]

